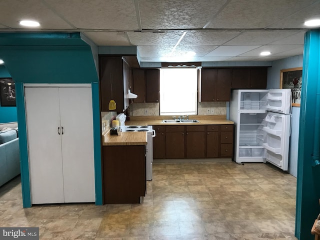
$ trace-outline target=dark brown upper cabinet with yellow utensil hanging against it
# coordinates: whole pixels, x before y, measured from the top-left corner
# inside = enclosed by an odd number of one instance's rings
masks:
[[[100,76],[100,98],[101,111],[109,111],[108,105],[112,99],[116,103],[115,111],[122,112],[124,107],[123,98],[123,72],[121,57],[100,57],[99,76]]]

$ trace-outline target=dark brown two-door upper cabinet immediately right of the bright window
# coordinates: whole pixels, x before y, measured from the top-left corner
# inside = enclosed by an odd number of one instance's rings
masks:
[[[199,101],[229,101],[231,68],[199,70]]]

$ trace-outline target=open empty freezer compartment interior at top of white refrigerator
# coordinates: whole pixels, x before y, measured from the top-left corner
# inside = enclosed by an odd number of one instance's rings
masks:
[[[266,109],[267,92],[241,92],[240,109]]]

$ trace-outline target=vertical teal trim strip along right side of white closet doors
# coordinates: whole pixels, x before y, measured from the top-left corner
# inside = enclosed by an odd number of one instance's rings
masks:
[[[95,205],[102,205],[102,168],[101,168],[101,126],[100,126],[100,103],[99,84],[91,83],[92,112],[93,112],[93,147],[94,147],[94,182],[95,182]]]

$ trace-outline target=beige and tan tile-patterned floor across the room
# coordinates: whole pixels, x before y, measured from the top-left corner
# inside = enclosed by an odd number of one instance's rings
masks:
[[[296,239],[296,179],[270,164],[156,163],[143,204],[22,208],[16,177],[0,187],[0,226],[40,239]]]

